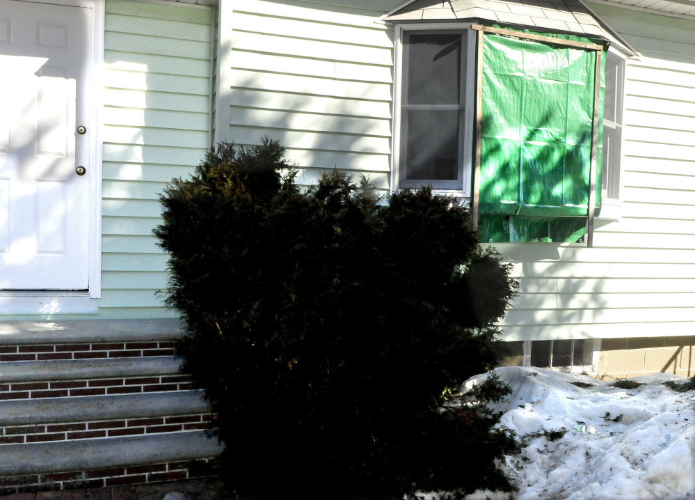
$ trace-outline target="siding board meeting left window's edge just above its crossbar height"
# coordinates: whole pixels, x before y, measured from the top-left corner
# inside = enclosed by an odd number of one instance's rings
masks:
[[[233,70],[230,75],[232,88],[256,88],[265,91],[304,93],[329,97],[352,97],[365,100],[391,100],[391,86],[367,84],[358,81],[342,81],[295,75]]]

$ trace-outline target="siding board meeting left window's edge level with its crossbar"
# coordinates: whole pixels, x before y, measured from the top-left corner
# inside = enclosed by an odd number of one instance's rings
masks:
[[[298,95],[245,88],[234,89],[234,92],[232,92],[232,106],[305,113],[315,113],[319,110],[321,113],[333,115],[391,119],[391,105],[389,102]]]

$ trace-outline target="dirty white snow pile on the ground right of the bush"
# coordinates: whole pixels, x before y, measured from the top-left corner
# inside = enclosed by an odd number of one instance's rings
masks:
[[[543,368],[506,367],[494,373],[513,392],[493,410],[504,412],[500,425],[516,431],[523,446],[522,453],[502,464],[518,486],[513,499],[680,500],[695,495],[695,392],[678,393],[664,385],[687,379],[664,373],[636,377],[632,380],[644,385],[626,390]],[[472,377],[465,386],[486,377]]]

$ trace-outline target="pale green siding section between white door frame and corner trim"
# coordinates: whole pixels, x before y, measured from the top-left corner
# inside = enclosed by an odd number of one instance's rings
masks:
[[[159,194],[211,143],[209,8],[106,1],[102,184],[103,318],[161,318],[166,254]]]

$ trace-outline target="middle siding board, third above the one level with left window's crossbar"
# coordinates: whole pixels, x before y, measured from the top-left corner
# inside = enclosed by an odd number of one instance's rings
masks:
[[[360,45],[321,42],[318,40],[301,40],[300,38],[241,31],[232,31],[230,38],[234,49],[248,52],[266,52],[267,54],[282,54],[309,59],[326,59],[328,61],[382,66],[391,66],[393,64],[392,50],[386,48],[361,47]],[[234,52],[234,49],[232,52]]]

